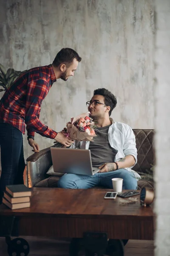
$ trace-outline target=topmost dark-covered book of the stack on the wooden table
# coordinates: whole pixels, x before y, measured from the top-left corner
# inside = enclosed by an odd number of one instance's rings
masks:
[[[31,190],[23,184],[8,185],[6,186],[6,191],[14,198],[31,196]]]

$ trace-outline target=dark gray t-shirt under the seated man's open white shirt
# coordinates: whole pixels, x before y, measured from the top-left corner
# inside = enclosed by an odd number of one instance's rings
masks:
[[[108,141],[108,130],[111,125],[97,128],[94,141],[90,142],[91,161],[93,167],[99,167],[104,163],[113,163],[117,150],[112,148]]]

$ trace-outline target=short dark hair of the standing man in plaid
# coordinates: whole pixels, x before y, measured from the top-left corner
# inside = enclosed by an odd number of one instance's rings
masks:
[[[67,67],[69,67],[74,60],[74,58],[77,59],[77,61],[81,61],[82,58],[78,55],[76,51],[74,51],[71,48],[62,48],[56,55],[53,61],[54,67],[58,67],[60,64],[65,64]]]

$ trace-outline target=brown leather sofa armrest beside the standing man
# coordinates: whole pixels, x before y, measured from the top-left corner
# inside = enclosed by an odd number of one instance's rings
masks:
[[[56,143],[52,147],[61,147],[61,144]],[[29,188],[49,177],[46,173],[52,165],[50,148],[42,149],[27,158],[27,183]]]

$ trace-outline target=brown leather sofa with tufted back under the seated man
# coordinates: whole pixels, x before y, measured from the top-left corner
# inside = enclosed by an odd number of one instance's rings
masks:
[[[151,129],[133,129],[136,136],[136,148],[138,152],[138,162],[133,170],[141,175],[142,179],[138,181],[138,189],[142,187],[153,188],[153,180],[150,168],[154,165],[153,136],[154,130]],[[27,182],[28,187],[57,187],[58,176],[49,176],[46,174],[52,165],[50,147],[34,153],[27,158]],[[148,178],[149,177],[149,178]]]

